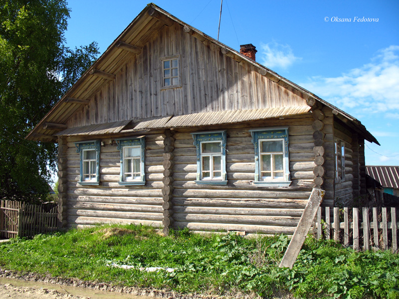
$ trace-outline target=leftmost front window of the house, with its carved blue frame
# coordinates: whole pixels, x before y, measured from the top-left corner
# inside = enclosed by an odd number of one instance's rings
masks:
[[[76,152],[80,153],[81,185],[98,185],[100,183],[100,141],[90,140],[75,143]]]

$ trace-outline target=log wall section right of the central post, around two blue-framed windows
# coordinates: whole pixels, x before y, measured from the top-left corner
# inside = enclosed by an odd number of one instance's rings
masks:
[[[195,231],[237,230],[247,234],[292,235],[314,186],[313,121],[312,116],[308,115],[257,124],[259,128],[289,126],[292,183],[286,188],[252,184],[254,147],[248,129],[253,127],[226,128],[228,183],[225,186],[197,185],[194,182],[197,156],[190,134],[193,131],[174,130],[174,226]]]

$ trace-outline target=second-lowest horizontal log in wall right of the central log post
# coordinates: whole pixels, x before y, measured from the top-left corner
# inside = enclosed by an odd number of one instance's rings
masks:
[[[175,213],[173,218],[180,222],[278,225],[288,227],[296,227],[299,222],[299,217],[290,216],[199,215]]]

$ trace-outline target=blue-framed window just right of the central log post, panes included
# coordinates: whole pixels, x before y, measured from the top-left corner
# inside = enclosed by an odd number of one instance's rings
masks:
[[[197,148],[197,180],[199,185],[225,185],[226,131],[192,133]]]

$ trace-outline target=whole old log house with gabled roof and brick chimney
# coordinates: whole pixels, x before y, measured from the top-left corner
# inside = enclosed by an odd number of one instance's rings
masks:
[[[366,194],[361,123],[154,4],[27,139],[58,143],[61,227],[292,234],[312,188]]]

